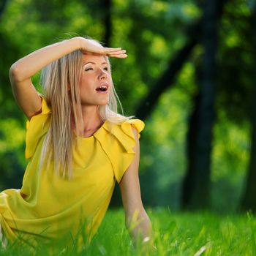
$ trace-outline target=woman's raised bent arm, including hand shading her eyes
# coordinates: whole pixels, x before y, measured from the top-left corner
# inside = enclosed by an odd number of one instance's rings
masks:
[[[121,48],[103,48],[89,39],[73,37],[36,50],[16,61],[10,68],[12,91],[18,105],[29,119],[41,109],[41,98],[31,83],[31,77],[43,67],[74,50],[126,58],[125,51]]]

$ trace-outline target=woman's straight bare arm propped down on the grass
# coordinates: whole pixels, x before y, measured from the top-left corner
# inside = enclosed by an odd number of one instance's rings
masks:
[[[131,165],[124,173],[120,182],[121,197],[125,211],[125,222],[132,241],[134,244],[138,242],[146,242],[151,239],[151,222],[148,214],[143,207],[140,196],[140,182],[138,177],[138,167],[140,162],[140,144],[138,139],[138,131],[132,128],[136,139],[135,158]]]

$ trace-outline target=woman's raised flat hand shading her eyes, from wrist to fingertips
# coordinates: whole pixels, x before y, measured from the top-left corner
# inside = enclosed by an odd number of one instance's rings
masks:
[[[78,39],[80,41],[80,50],[83,50],[84,53],[97,53],[119,59],[127,58],[126,50],[121,50],[121,48],[105,48],[94,40],[83,37],[78,37]]]

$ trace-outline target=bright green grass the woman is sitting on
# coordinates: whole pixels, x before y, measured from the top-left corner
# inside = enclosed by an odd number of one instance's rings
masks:
[[[252,214],[219,215],[207,212],[173,213],[164,208],[148,209],[154,227],[153,252],[134,249],[123,210],[109,210],[102,225],[82,252],[76,248],[59,255],[256,255],[256,218]],[[23,248],[7,248],[1,255],[28,255]],[[49,255],[37,249],[35,255]]]

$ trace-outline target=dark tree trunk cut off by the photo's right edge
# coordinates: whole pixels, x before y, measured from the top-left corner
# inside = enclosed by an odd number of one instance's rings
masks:
[[[252,36],[254,40],[254,56],[256,56],[256,2],[252,11]],[[256,212],[256,59],[255,72],[253,78],[254,92],[252,95],[252,138],[251,138],[251,152],[249,161],[249,170],[246,180],[246,187],[244,190],[244,197],[241,202],[241,209],[244,211],[252,210]]]

